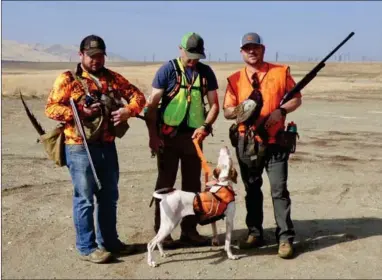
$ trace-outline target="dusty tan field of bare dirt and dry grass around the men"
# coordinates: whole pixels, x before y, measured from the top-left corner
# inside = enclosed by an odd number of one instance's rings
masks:
[[[52,68],[52,65],[49,67]],[[213,64],[222,97],[225,78],[239,65]],[[291,64],[299,80],[313,64]],[[66,69],[63,66],[61,69]],[[149,94],[158,65],[111,67]],[[147,266],[145,244],[153,237],[153,208],[148,204],[156,180],[147,130],[132,120],[131,130],[117,140],[121,166],[118,228],[122,240],[141,250],[112,264],[79,261],[74,248],[68,171],[45,158],[21,102],[20,88],[45,128],[48,90],[62,70],[47,66],[3,69],[2,79],[2,278],[382,278],[382,64],[329,64],[304,91],[302,107],[288,116],[297,122],[300,140],[291,156],[289,190],[297,238],[296,257],[281,260],[269,183],[264,180],[267,245],[229,261],[223,247],[170,251],[160,264]],[[229,145],[221,114],[215,136],[206,140],[206,157],[216,163]],[[237,162],[235,160],[237,166]],[[179,181],[178,181],[179,182]],[[244,237],[243,184],[237,190],[234,239]],[[210,226],[199,227],[211,235]],[[224,238],[224,223],[218,222]],[[179,236],[177,229],[174,237]]]

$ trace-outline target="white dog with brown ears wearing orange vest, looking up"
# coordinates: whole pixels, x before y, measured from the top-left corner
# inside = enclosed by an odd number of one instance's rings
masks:
[[[215,222],[226,217],[226,238],[224,250],[231,260],[239,257],[232,254],[231,236],[235,217],[235,193],[232,183],[237,183],[237,171],[233,167],[229,149],[220,149],[217,167],[213,171],[215,180],[207,183],[207,191],[195,194],[173,189],[172,192],[160,194],[159,190],[153,193],[153,197],[161,199],[160,217],[161,224],[157,235],[147,244],[147,263],[155,267],[152,252],[158,246],[159,253],[166,257],[163,251],[162,241],[179,224],[184,216],[197,215],[199,224],[212,224],[212,245],[219,245]]]

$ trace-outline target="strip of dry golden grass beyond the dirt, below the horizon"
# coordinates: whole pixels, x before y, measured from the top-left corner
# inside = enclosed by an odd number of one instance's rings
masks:
[[[110,69],[118,71],[137,85],[146,95],[161,64],[110,63]],[[315,63],[289,63],[291,73],[299,81]],[[45,98],[54,79],[65,69],[73,69],[74,63],[6,63],[3,65],[2,96],[15,96],[22,90],[27,97]],[[226,78],[242,67],[240,63],[211,63],[223,96]],[[344,100],[368,98],[381,99],[382,63],[328,63],[319,75],[303,91],[306,98]]]

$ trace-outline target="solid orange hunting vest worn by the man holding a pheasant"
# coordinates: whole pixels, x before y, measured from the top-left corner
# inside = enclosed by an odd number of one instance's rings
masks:
[[[260,92],[263,97],[263,107],[260,111],[259,118],[254,124],[254,128],[256,128],[256,125],[259,125],[266,116],[280,106],[280,101],[286,93],[287,73],[289,71],[289,67],[286,65],[267,64],[269,65],[268,71],[265,73],[265,76],[261,80],[260,84]],[[228,83],[233,91],[232,93],[236,95],[237,104],[246,100],[253,91],[245,68],[229,76]],[[240,134],[244,134],[246,129],[247,128],[244,124],[239,124],[238,130]],[[269,135],[269,144],[276,143],[275,136],[281,129],[285,129],[285,117],[267,130]],[[256,138],[258,139],[258,137]],[[258,139],[258,141],[261,142],[261,139]]]

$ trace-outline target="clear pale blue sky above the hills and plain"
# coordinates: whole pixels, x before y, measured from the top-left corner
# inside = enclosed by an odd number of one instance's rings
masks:
[[[323,57],[351,31],[340,51],[382,60],[382,2],[4,2],[2,38],[24,43],[79,44],[91,33],[130,60],[178,55],[184,33],[198,32],[212,60],[240,60],[250,31],[264,39],[266,58]]]

